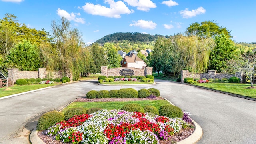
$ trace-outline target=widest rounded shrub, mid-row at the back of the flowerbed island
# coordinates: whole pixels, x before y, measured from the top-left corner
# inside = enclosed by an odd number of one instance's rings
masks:
[[[117,98],[138,98],[137,90],[133,88],[122,88],[116,94]]]

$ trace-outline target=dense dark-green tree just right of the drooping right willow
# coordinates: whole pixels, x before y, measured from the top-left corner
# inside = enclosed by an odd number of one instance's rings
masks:
[[[228,71],[228,60],[236,59],[239,55],[236,44],[225,34],[215,37],[215,47],[211,51],[209,70],[218,73]]]

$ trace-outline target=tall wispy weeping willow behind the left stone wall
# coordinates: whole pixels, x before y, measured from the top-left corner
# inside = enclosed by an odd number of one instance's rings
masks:
[[[72,74],[73,80],[78,80],[84,71],[82,52],[82,35],[76,28],[71,28],[70,22],[62,17],[52,22],[54,42],[41,46],[42,57],[47,70],[64,70],[65,75]]]

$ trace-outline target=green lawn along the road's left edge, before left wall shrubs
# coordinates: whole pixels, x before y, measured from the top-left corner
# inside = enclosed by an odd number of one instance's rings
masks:
[[[27,92],[30,90],[36,90],[39,88],[45,88],[48,86],[54,86],[54,85],[58,85],[59,83],[54,83],[54,84],[30,84],[30,85],[24,85],[24,86],[18,86],[18,85],[14,85],[14,86],[9,86],[8,88],[12,89],[12,90],[4,90],[4,88],[0,88],[0,97],[4,97],[4,96],[9,96],[12,94],[18,94],[21,92]]]

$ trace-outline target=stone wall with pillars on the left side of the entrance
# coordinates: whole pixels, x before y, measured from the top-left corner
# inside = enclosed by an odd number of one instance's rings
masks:
[[[38,68],[38,71],[19,71],[18,68],[10,68],[8,70],[8,78],[10,79],[12,85],[16,80],[20,78],[62,78],[65,76],[64,71],[48,71],[46,68]],[[72,74],[66,74],[73,80]]]

